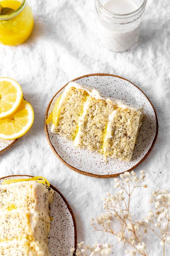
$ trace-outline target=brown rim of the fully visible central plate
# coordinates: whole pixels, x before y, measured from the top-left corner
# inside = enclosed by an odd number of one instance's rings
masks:
[[[116,75],[112,75],[112,74],[105,74],[105,73],[95,73],[95,74],[88,74],[88,75],[85,75],[85,76],[81,76],[81,77],[77,77],[71,81],[76,81],[80,78],[83,78],[83,77],[90,77],[90,76],[112,76],[112,77],[118,77],[118,78],[121,78],[121,79],[124,79],[128,82],[130,82],[129,80],[127,80],[126,78],[123,78],[123,77],[120,77],[120,76],[116,76]],[[132,82],[130,82],[132,83]],[[68,83],[67,83],[68,84]],[[49,134],[48,134],[48,129],[47,129],[47,124],[45,123],[46,122],[46,119],[48,117],[48,111],[49,111],[49,108],[50,108],[50,105],[51,105],[51,102],[53,101],[53,99],[56,97],[56,95],[64,88],[67,86],[67,84],[65,84],[55,95],[54,97],[50,100],[49,104],[48,104],[48,107],[47,107],[47,110],[45,112],[45,119],[44,119],[44,130],[45,130],[45,135],[47,137],[47,141],[48,141],[48,144],[50,145],[52,151],[54,152],[54,154],[58,157],[58,159],[63,163],[65,164],[67,167],[69,167],[70,169],[72,169],[73,171],[77,172],[77,173],[80,173],[80,174],[83,174],[83,175],[86,175],[86,176],[91,176],[91,177],[95,177],[95,178],[113,178],[113,177],[117,177],[119,176],[121,173],[119,174],[106,174],[106,175],[98,175],[98,174],[93,174],[93,173],[89,173],[89,172],[84,172],[84,171],[81,171],[75,167],[73,167],[72,165],[69,165],[66,161],[64,161],[64,159],[62,159],[62,157],[57,153],[57,151],[55,150],[54,146],[51,144],[50,142],[50,139],[49,139]],[[130,172],[131,170],[133,170],[134,168],[136,168],[139,164],[141,164],[145,158],[149,155],[149,153],[151,152],[155,142],[156,142],[156,139],[157,139],[157,136],[158,136],[158,117],[157,117],[157,114],[156,114],[156,110],[152,104],[152,102],[150,101],[150,99],[147,97],[147,95],[138,87],[136,86],[136,84],[132,83],[135,87],[137,87],[144,95],[145,97],[149,100],[150,104],[152,105],[152,108],[154,110],[154,113],[155,113],[155,117],[156,117],[156,134],[155,134],[155,137],[154,137],[154,140],[152,142],[152,145],[150,147],[150,149],[148,150],[148,152],[146,153],[146,155],[136,164],[134,165],[132,168],[128,169],[126,172]],[[123,172],[122,172],[123,173]]]

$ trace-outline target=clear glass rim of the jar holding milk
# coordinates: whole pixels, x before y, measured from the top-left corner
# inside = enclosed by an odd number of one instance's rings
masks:
[[[117,19],[126,19],[126,18],[132,18],[135,17],[137,15],[140,15],[143,13],[143,11],[145,10],[146,7],[146,3],[147,0],[143,0],[142,4],[138,7],[138,9],[136,9],[135,11],[131,12],[131,13],[125,13],[125,14],[118,14],[118,13],[113,13],[109,10],[107,10],[101,3],[100,0],[95,0],[95,6],[96,4],[98,5],[98,7],[100,8],[100,11],[103,11],[105,15],[108,15],[110,17],[113,18],[117,18]],[[97,11],[97,9],[96,9]]]

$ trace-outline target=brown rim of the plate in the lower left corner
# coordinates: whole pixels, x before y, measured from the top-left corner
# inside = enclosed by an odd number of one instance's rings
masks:
[[[9,176],[5,176],[5,177],[2,177],[0,178],[1,179],[5,179],[5,178],[9,178],[9,177],[21,177],[21,176],[26,176],[26,177],[35,177],[35,176],[31,176],[31,175],[9,175]],[[67,205],[67,208],[69,209],[69,212],[72,216],[72,220],[73,220],[73,225],[74,225],[74,248],[76,250],[77,248],[77,228],[76,228],[76,221],[75,221],[75,217],[74,217],[74,214],[73,214],[73,211],[69,205],[69,203],[67,202],[66,198],[62,195],[62,193],[56,188],[54,187],[53,185],[50,184],[50,187],[52,189],[54,189],[60,196],[61,198],[63,199],[63,201],[65,202],[65,204]],[[71,249],[71,248],[70,248]]]

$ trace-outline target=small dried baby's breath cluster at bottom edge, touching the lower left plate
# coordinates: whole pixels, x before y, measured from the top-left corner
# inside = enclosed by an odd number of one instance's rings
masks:
[[[76,252],[74,251],[75,248],[70,249],[70,256],[106,256],[112,252],[112,245],[108,243],[95,243],[90,246],[89,244],[84,245],[84,242],[81,242],[77,244]]]

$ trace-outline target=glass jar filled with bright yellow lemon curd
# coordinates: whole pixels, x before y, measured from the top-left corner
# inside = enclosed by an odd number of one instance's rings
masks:
[[[9,7],[14,12],[0,15],[0,43],[4,45],[22,44],[30,36],[34,20],[27,0],[2,0],[2,7]]]

